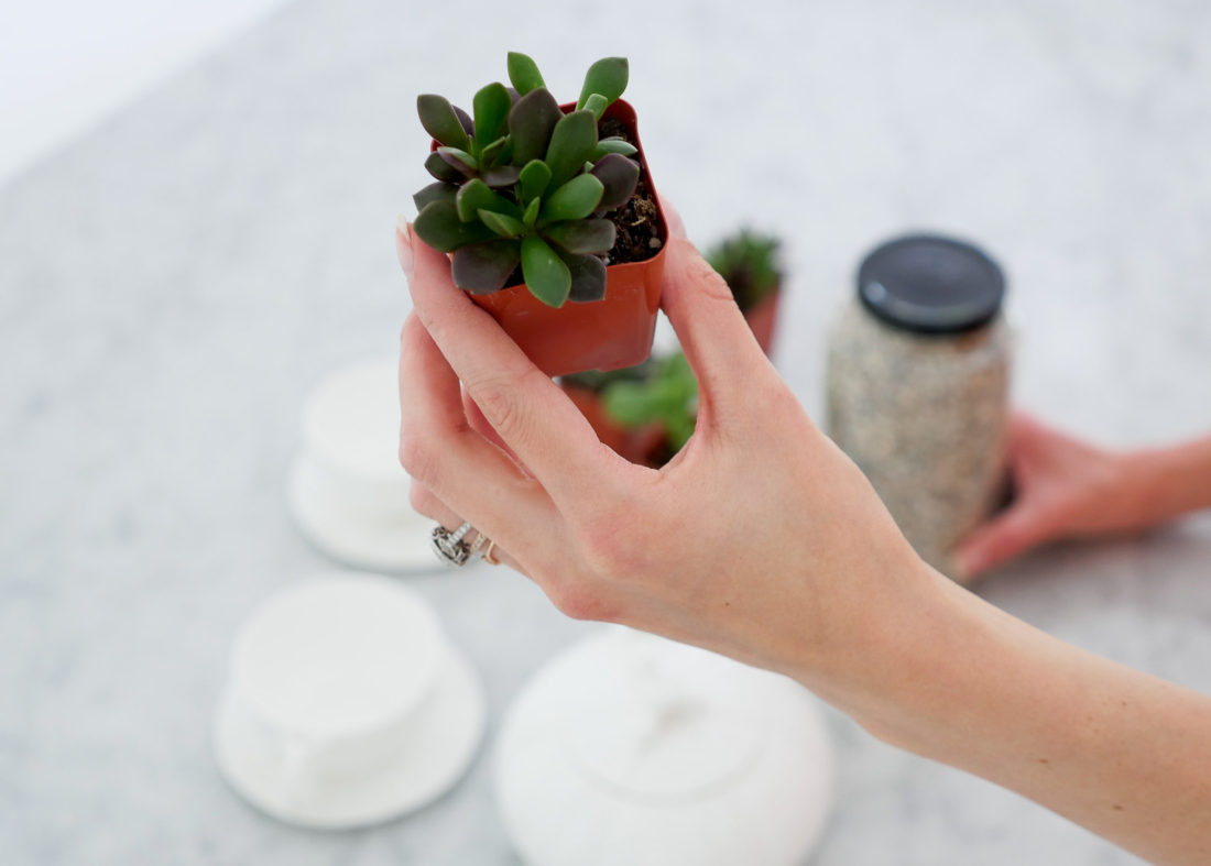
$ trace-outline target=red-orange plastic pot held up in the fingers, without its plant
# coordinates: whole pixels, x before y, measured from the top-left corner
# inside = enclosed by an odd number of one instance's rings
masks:
[[[566,103],[559,108],[568,114],[576,105]],[[602,115],[603,120],[609,117],[622,124],[626,137],[639,150],[633,159],[638,159],[642,168],[641,183],[647,185],[656,202],[656,235],[660,239],[656,254],[643,262],[607,266],[606,297],[602,300],[569,300],[556,309],[530,294],[524,283],[490,294],[470,296],[547,375],[633,367],[652,354],[668,225],[639,143],[635,109],[619,99]],[[432,149],[437,149],[437,142],[434,142]]]

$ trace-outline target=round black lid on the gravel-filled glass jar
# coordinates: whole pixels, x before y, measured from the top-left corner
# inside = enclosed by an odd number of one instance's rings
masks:
[[[857,296],[889,325],[954,334],[988,323],[1005,275],[983,251],[941,235],[908,235],[877,247],[857,269]]]

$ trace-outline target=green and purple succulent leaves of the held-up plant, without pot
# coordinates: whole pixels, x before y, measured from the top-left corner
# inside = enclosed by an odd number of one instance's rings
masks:
[[[637,150],[598,139],[597,122],[626,88],[625,58],[593,63],[563,114],[538,65],[510,52],[512,90],[494,82],[475,94],[474,117],[446,98],[423,94],[417,113],[438,143],[425,160],[436,178],[413,196],[413,228],[429,246],[454,253],[454,285],[475,294],[504,288],[517,270],[550,306],[606,297],[614,223],[606,216],[635,194]]]

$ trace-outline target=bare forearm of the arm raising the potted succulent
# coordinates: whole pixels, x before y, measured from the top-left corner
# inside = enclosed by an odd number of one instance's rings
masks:
[[[1211,862],[1211,699],[1068,646],[941,578],[934,595],[886,635],[878,688],[838,704],[888,742],[1152,861]]]

